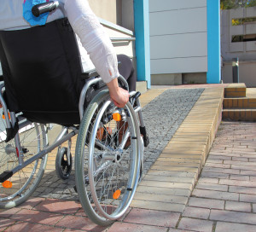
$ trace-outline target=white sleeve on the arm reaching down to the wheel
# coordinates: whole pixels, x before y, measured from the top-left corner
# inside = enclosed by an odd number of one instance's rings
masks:
[[[65,10],[73,31],[79,36],[102,80],[108,83],[113,78],[119,77],[113,44],[90,9],[88,1],[66,0]]]

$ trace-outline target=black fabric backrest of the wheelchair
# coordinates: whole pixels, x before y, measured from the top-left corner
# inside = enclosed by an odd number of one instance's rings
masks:
[[[38,123],[79,124],[85,80],[67,19],[18,31],[0,31],[0,61],[9,110]]]

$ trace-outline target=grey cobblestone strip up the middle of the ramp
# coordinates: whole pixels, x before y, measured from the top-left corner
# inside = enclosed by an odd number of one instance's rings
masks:
[[[203,89],[166,90],[143,107],[143,119],[150,139],[150,144],[144,152],[144,173],[154,164],[155,159],[171,140],[202,92]],[[73,142],[74,146],[75,142]],[[54,160],[48,162],[51,161]],[[44,174],[33,197],[78,200],[78,194],[73,189],[74,185],[74,171],[69,179],[63,181],[56,176],[53,165],[52,171]]]

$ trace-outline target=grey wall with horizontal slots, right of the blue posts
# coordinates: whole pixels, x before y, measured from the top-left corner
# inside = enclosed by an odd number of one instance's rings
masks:
[[[221,55],[224,83],[233,82],[232,59],[239,58],[239,81],[256,87],[256,41],[232,43],[232,36],[256,34],[256,23],[232,26],[232,20],[255,17],[256,7],[230,9],[221,12]]]

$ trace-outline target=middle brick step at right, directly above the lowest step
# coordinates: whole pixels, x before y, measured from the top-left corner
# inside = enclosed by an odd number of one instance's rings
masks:
[[[223,107],[225,109],[231,109],[231,108],[253,109],[253,108],[256,108],[256,97],[224,98]]]

